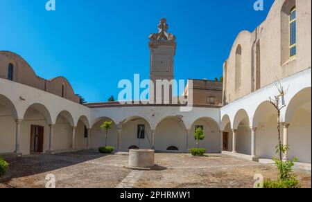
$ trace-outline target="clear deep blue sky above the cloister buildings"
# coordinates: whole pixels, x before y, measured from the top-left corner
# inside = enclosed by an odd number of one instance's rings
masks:
[[[67,77],[88,102],[118,97],[119,80],[149,77],[148,35],[166,17],[177,37],[175,78],[223,75],[241,30],[266,19],[273,0],[0,0],[0,50],[15,52],[46,79]]]

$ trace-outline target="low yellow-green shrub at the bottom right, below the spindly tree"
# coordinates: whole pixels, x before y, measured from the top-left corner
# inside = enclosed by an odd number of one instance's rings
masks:
[[[300,187],[299,181],[295,178],[288,178],[283,181],[266,180],[263,182],[263,188],[266,189],[298,189]]]

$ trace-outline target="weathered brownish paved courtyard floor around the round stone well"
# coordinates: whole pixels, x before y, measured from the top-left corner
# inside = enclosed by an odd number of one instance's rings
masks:
[[[252,187],[254,174],[276,178],[270,165],[211,154],[156,154],[159,169],[132,171],[126,168],[128,154],[103,155],[94,151],[10,158],[5,187],[45,187],[46,175],[53,174],[56,187],[135,187],[135,188],[202,188]],[[311,188],[310,172],[295,172],[302,187]]]

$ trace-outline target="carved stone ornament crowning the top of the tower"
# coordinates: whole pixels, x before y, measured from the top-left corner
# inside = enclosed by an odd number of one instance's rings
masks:
[[[150,35],[150,41],[175,42],[175,35],[167,33],[168,27],[167,20],[165,18],[160,19],[160,23],[158,25],[159,32],[157,34]]]

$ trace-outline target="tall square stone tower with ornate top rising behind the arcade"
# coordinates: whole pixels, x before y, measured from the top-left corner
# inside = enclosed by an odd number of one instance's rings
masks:
[[[159,32],[150,35],[150,80],[155,86],[155,90],[150,89],[150,102],[156,103],[156,81],[173,80],[173,64],[175,49],[175,36],[167,33],[168,24],[166,19],[160,19],[158,25]],[[169,89],[169,103],[172,103],[172,86]],[[164,102],[164,92],[162,92],[162,102]],[[168,104],[168,103],[164,103]]]

